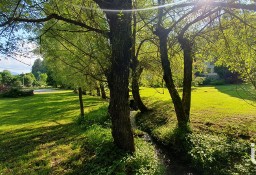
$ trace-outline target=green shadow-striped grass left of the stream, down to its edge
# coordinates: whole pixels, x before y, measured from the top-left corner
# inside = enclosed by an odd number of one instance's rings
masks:
[[[71,91],[0,98],[0,174],[162,174],[150,143],[136,138],[131,156],[111,137],[108,103]]]

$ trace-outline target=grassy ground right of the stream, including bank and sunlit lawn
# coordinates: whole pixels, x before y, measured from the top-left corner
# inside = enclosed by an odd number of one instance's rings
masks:
[[[247,88],[248,89],[248,88]],[[140,127],[173,152],[186,152],[189,165],[202,174],[254,174],[250,142],[256,142],[256,107],[241,87],[193,88],[190,134],[180,145],[176,116],[166,89],[142,88],[153,110],[137,117]]]

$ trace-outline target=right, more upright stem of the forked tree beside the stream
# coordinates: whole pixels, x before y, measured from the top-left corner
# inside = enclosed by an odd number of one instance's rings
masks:
[[[192,83],[192,63],[193,53],[192,44],[186,38],[179,37],[178,41],[181,45],[184,54],[184,78],[183,78],[183,94],[182,104],[186,114],[186,118],[189,120],[190,106],[191,106],[191,83]]]

